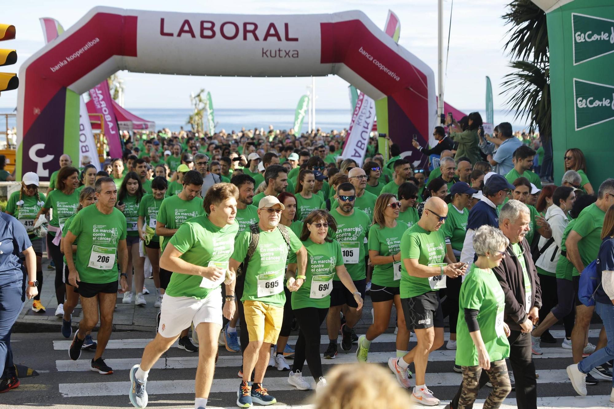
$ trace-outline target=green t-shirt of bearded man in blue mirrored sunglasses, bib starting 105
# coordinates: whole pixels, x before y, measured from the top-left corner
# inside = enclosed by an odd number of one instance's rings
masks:
[[[337,223],[337,231],[332,237],[341,246],[343,263],[353,281],[366,278],[365,273],[365,237],[369,231],[371,220],[367,213],[354,208],[351,216],[343,216],[335,209],[330,212]],[[335,276],[335,281],[339,278]]]

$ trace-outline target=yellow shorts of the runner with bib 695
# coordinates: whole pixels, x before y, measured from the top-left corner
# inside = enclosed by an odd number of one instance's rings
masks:
[[[243,310],[249,341],[276,344],[284,321],[284,307],[246,300],[243,302]]]

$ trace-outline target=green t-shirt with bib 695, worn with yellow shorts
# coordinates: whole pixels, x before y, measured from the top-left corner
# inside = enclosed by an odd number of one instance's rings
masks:
[[[303,243],[298,240],[291,229],[288,230],[290,252],[296,253],[303,247]],[[249,230],[238,236],[235,242],[235,251],[231,256],[234,260],[239,263],[243,262],[251,239],[252,234]],[[283,307],[286,303],[286,294],[284,294],[286,281],[284,277],[288,258],[288,245],[279,229],[276,228],[273,232],[263,232],[261,228],[258,247],[247,263],[241,302],[246,300],[260,301]]]

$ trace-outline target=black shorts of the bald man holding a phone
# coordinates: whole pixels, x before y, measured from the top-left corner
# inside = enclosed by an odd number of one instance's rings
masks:
[[[437,291],[401,298],[401,305],[408,330],[443,328],[443,312]]]

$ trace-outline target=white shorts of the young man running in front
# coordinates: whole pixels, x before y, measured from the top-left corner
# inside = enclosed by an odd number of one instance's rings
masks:
[[[177,337],[192,323],[194,327],[201,322],[219,324],[222,328],[222,289],[209,293],[207,298],[197,300],[192,297],[171,297],[165,294],[160,308],[160,326],[158,332],[162,337]]]

